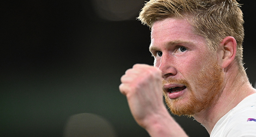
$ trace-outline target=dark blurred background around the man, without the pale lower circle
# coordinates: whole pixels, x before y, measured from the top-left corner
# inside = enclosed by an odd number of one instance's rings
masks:
[[[5,0],[0,19],[0,136],[62,137],[71,115],[107,119],[118,137],[149,137],[134,121],[120,77],[153,64],[150,30],[136,17],[144,0]],[[255,83],[256,1],[240,0],[244,62]],[[190,137],[209,137],[176,117]]]

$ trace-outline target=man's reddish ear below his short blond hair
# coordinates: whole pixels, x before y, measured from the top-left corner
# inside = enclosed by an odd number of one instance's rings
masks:
[[[226,68],[236,56],[236,39],[232,36],[224,38],[217,51],[217,58],[221,68]]]

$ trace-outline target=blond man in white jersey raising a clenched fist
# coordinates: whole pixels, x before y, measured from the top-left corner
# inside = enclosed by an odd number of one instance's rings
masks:
[[[256,90],[243,67],[243,15],[236,0],[150,0],[154,67],[121,78],[135,121],[152,137],[187,137],[165,109],[193,116],[211,137],[256,137]],[[163,91],[163,92],[161,92]]]

